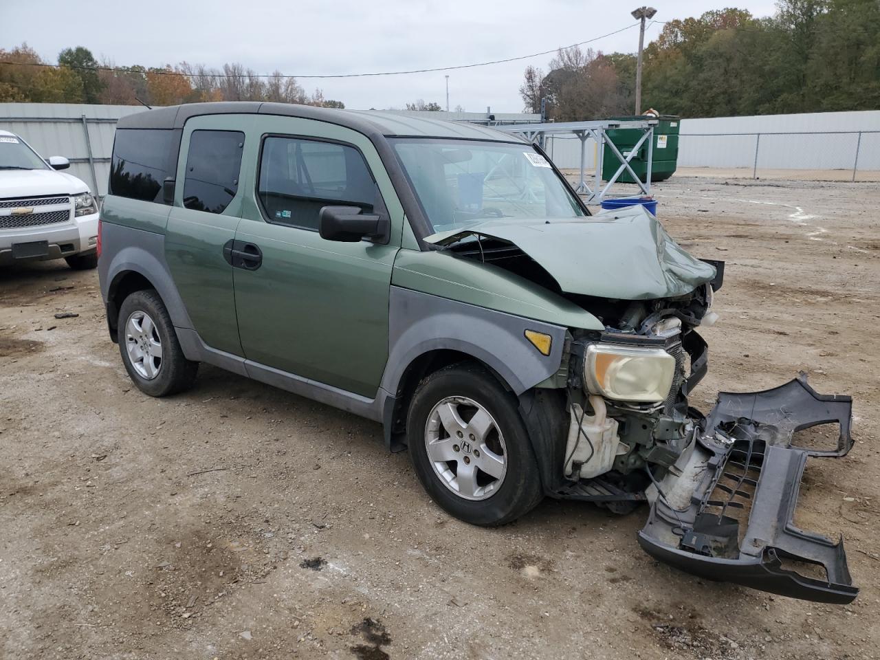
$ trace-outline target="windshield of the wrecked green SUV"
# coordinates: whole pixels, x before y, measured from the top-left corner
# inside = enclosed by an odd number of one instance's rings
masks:
[[[392,143],[435,233],[486,218],[587,215],[529,144],[429,138]]]

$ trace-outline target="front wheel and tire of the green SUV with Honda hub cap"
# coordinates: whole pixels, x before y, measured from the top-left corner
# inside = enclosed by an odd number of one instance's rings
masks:
[[[436,371],[407,415],[416,476],[431,498],[466,523],[510,523],[542,497],[516,398],[478,364]]]

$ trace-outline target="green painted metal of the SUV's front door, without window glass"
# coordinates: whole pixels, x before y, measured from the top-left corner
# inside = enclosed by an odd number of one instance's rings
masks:
[[[263,218],[253,173],[236,238],[260,246],[262,265],[234,268],[238,329],[245,356],[366,397],[378,390],[388,359],[388,297],[400,250],[403,209],[378,153],[363,135],[322,121],[260,116],[247,135],[325,137],[353,144],[377,180],[392,221],[388,245],[340,243]],[[253,163],[257,162],[253,156]]]

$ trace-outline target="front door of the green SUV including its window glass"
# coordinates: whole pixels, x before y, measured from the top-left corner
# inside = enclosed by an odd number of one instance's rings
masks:
[[[236,231],[260,266],[235,268],[248,360],[374,397],[388,356],[388,298],[403,210],[370,141],[348,128],[260,117],[255,186]],[[324,206],[388,216],[385,245],[321,238]]]

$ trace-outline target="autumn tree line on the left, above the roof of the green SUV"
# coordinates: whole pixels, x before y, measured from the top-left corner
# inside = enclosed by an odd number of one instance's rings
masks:
[[[232,62],[222,69],[180,62],[176,66],[115,67],[98,62],[82,46],[65,48],[58,66],[43,66],[40,55],[26,43],[10,50],[0,48],[0,102],[106,103],[134,106],[173,106],[198,101],[277,101],[309,106],[345,107],[325,99],[324,92],[311,94],[292,77],[278,71],[260,77]]]

